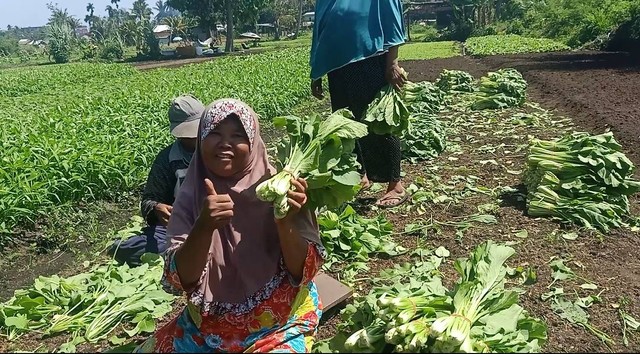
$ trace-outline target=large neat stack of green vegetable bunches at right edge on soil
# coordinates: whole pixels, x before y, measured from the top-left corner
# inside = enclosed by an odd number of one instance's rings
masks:
[[[626,225],[627,196],[640,189],[635,167],[611,132],[533,139],[525,184],[528,213],[607,232]]]

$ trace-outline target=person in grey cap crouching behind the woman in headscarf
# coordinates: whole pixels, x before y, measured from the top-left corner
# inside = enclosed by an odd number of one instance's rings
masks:
[[[176,141],[156,156],[142,193],[140,209],[147,226],[142,234],[115,241],[107,250],[120,263],[140,265],[144,253],[162,253],[173,202],[196,147],[204,104],[193,96],[175,98],[169,107],[171,135]]]

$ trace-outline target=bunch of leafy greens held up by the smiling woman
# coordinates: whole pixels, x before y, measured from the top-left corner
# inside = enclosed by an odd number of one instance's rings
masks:
[[[356,139],[367,134],[367,126],[353,120],[346,109],[324,119],[274,118],[273,124],[287,130],[287,139],[278,146],[278,174],[256,188],[258,198],[274,203],[276,218],[289,211],[287,192],[291,179],[304,177],[311,208],[337,208],[353,199],[360,188],[359,164],[353,149]]]

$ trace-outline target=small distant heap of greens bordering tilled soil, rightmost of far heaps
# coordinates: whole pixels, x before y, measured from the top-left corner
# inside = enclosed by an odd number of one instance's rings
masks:
[[[500,69],[480,79],[479,91],[471,109],[520,107],[527,98],[527,82],[516,69]]]

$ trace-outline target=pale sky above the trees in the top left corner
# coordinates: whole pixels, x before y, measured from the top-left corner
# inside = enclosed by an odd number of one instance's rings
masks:
[[[93,3],[95,14],[104,16],[105,8],[111,4],[110,0],[0,0],[0,29],[7,29],[7,25],[18,27],[44,26],[49,18],[47,3],[58,3],[58,7],[66,8],[68,12],[80,19],[84,24],[87,15],[87,4]],[[121,0],[120,7],[131,8],[134,0]],[[153,7],[155,1],[147,1]]]

